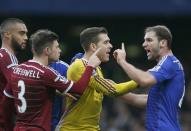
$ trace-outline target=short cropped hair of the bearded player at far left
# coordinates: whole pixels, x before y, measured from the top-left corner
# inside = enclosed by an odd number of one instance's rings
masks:
[[[17,23],[25,24],[21,19],[18,18],[8,18],[4,20],[0,25],[0,34],[2,35],[4,32],[9,31]]]

